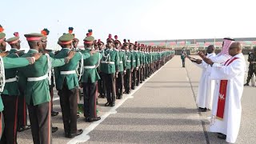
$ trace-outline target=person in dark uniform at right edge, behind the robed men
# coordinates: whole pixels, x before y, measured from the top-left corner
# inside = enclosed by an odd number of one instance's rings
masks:
[[[249,86],[249,82],[250,82],[250,79],[252,78],[253,74],[255,74],[255,76],[256,76],[256,46],[254,46],[254,53],[250,53],[248,55],[248,62],[250,62],[249,70],[248,70],[248,76],[246,79],[246,84],[244,86]],[[253,80],[255,81],[255,79],[253,79]]]

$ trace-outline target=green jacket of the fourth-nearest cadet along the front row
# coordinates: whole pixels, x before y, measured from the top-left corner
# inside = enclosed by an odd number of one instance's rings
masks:
[[[118,71],[120,60],[117,50],[106,49],[103,52],[103,58],[101,62],[101,70],[105,74],[114,74]]]

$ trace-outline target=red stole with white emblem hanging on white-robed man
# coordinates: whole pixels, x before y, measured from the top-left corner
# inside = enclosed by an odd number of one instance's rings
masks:
[[[224,66],[229,66],[230,63],[234,62],[238,58],[229,59],[225,62]],[[224,109],[225,109],[225,102],[226,102],[226,88],[227,88],[227,80],[221,80],[219,86],[219,95],[218,95],[218,109],[216,117],[219,119],[223,119],[224,117]]]

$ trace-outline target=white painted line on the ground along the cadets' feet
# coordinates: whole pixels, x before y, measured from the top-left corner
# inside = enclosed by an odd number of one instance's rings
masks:
[[[170,61],[169,61],[169,62],[170,62]],[[167,65],[167,63],[169,63],[169,62],[166,62],[166,65]],[[165,65],[165,66],[166,66],[166,65]],[[157,70],[154,74],[157,74],[158,71],[162,70],[163,67],[164,67],[164,66],[162,66],[162,67],[161,67],[159,70]],[[150,76],[150,78],[153,78],[153,77],[154,77],[154,74],[152,74],[152,75]],[[81,135],[79,135],[79,136],[77,136],[77,137],[71,139],[70,142],[68,142],[67,144],[76,144],[76,143],[78,143],[78,142],[86,142],[86,141],[88,141],[88,140],[90,139],[90,136],[87,135],[87,134],[89,134],[92,130],[94,130],[94,129],[95,129],[100,123],[102,123],[110,114],[116,114],[116,113],[117,113],[116,109],[117,109],[119,106],[121,106],[121,105],[123,104],[123,102],[126,102],[126,100],[127,100],[128,98],[134,98],[133,94],[134,94],[137,90],[139,90],[147,81],[149,81],[150,78],[147,78],[147,79],[146,79],[144,82],[142,82],[135,90],[133,90],[133,91],[132,91],[130,94],[128,94],[125,98],[122,98],[122,100],[119,101],[119,102],[117,103],[117,105],[115,105],[114,107],[112,107],[112,108],[110,109],[110,111],[108,111],[108,112],[106,112],[105,114],[103,114],[103,115],[101,116],[101,118],[102,118],[101,120],[99,120],[99,121],[97,121],[97,122],[93,122],[92,124],[90,124],[90,126],[86,127],[86,129],[83,130],[83,133],[82,133]]]

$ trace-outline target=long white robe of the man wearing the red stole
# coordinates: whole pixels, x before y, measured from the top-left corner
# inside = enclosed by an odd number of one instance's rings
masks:
[[[224,118],[216,118],[218,110],[219,93],[214,93],[214,103],[210,131],[226,134],[226,142],[234,143],[238,137],[241,121],[241,98],[243,91],[243,81],[246,72],[246,61],[242,54],[237,54],[233,58],[238,58],[231,62],[229,66],[214,63],[210,78],[215,80],[228,80],[226,90],[226,103],[224,108]],[[233,59],[233,58],[230,58]],[[219,91],[220,82],[215,91]]]

